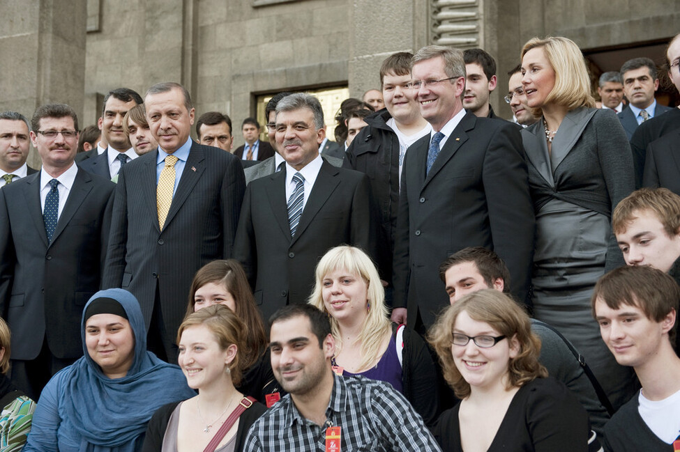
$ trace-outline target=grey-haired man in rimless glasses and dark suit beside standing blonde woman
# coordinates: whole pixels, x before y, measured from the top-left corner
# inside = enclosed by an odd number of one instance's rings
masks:
[[[464,247],[495,251],[510,269],[511,292],[527,299],[534,207],[517,126],[462,108],[462,53],[424,47],[411,77],[433,130],[409,148],[402,170],[392,319],[423,332],[448,304],[439,263]]]

